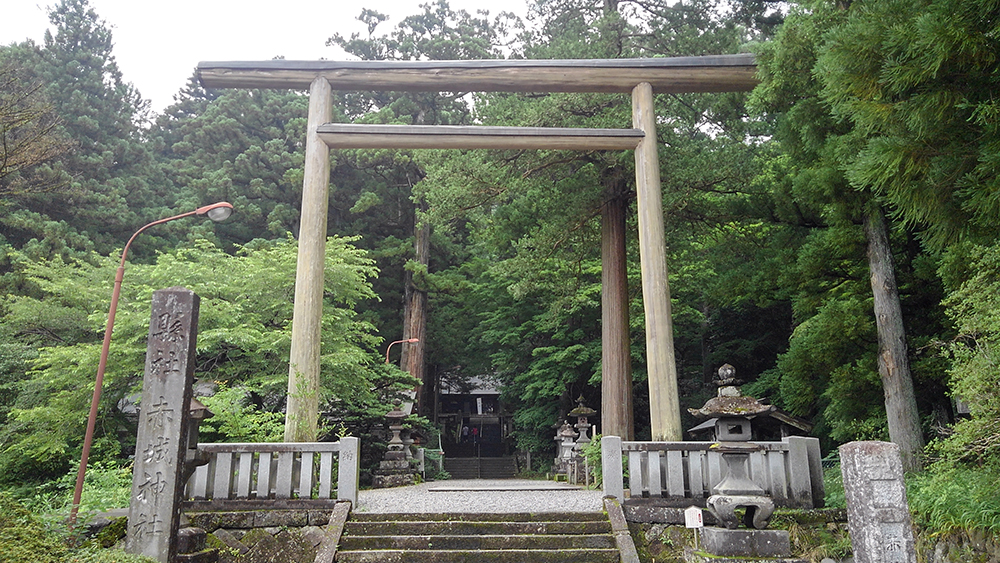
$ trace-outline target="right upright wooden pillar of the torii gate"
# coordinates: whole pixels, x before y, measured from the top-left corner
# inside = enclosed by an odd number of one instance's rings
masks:
[[[681,439],[677,397],[677,364],[670,318],[667,248],[663,236],[663,198],[656,149],[653,87],[643,82],[632,90],[632,126],[645,133],[635,149],[635,183],[639,215],[639,263],[642,304],[646,314],[646,369],[649,374],[649,418],[653,440]]]

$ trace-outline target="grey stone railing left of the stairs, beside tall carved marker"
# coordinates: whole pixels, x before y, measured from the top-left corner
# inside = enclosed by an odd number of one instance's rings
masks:
[[[292,500],[305,504],[349,500],[357,506],[359,447],[360,440],[351,437],[339,442],[198,444],[199,453],[207,454],[209,462],[196,468],[188,480],[187,505],[210,508],[246,501],[280,505]]]

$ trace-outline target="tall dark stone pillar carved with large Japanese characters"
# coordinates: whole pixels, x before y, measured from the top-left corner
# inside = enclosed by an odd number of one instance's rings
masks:
[[[125,546],[161,563],[177,554],[199,301],[183,287],[153,292]]]

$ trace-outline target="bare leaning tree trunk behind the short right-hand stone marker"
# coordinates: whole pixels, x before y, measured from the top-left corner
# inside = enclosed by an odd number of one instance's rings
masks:
[[[878,331],[878,371],[885,392],[889,439],[899,446],[903,470],[919,470],[924,438],[910,375],[903,311],[889,249],[889,228],[881,208],[865,215],[864,228],[868,239],[868,267],[871,270],[875,327]]]

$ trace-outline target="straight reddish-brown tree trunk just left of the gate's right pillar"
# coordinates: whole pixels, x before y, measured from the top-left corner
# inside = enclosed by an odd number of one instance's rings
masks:
[[[633,440],[625,254],[627,208],[626,197],[613,193],[601,209],[601,432]]]

